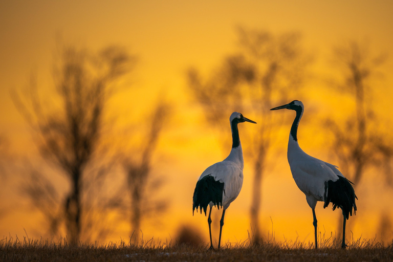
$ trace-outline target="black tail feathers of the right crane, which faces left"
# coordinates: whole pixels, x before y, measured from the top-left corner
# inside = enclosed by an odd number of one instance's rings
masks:
[[[355,194],[355,190],[352,187],[351,181],[344,177],[339,176],[338,180],[333,182],[332,180],[325,182],[325,193],[324,200],[325,203],[323,208],[327,207],[330,202],[333,204],[333,210],[337,207],[341,208],[343,215],[346,219],[352,215],[356,214],[356,203],[355,199],[358,199]]]

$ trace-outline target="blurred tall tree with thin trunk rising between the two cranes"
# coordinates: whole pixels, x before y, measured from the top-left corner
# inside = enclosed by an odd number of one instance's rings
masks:
[[[254,169],[250,216],[257,243],[261,238],[258,225],[261,185],[267,166],[272,164],[267,158],[271,136],[282,123],[269,110],[273,105],[287,103],[298,91],[310,57],[303,53],[301,37],[296,33],[274,35],[240,28],[237,34],[240,50],[227,56],[219,70],[202,81],[199,72],[190,69],[188,80],[206,118],[221,132],[227,131],[233,111],[246,111],[244,114],[258,123],[253,134],[249,133],[250,128],[242,130],[242,140],[247,141],[245,151],[249,152],[245,159],[253,163]]]

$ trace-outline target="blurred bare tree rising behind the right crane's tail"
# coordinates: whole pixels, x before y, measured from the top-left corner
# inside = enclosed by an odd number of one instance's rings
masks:
[[[378,128],[378,114],[372,105],[373,79],[385,60],[386,55],[372,56],[368,46],[355,41],[334,49],[334,64],[342,76],[334,86],[354,101],[355,108],[344,123],[329,118],[325,125],[334,135],[332,151],[340,169],[355,184],[355,189],[366,171],[373,167],[380,170],[378,174],[384,176],[389,186],[393,186],[390,168],[393,141]],[[340,220],[341,217],[340,214]],[[342,232],[340,224],[338,235]]]

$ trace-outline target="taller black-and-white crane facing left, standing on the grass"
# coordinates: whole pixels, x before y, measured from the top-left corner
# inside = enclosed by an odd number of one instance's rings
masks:
[[[351,181],[347,180],[337,169],[337,166],[307,155],[297,141],[297,128],[303,115],[304,105],[301,101],[294,100],[288,104],[277,106],[271,110],[279,109],[294,110],[295,120],[292,123],[288,141],[288,163],[291,168],[293,179],[299,189],[305,194],[307,203],[313,210],[313,225],[315,231],[315,248],[317,243],[317,217],[315,206],[318,201],[324,202],[323,208],[332,202],[333,210],[341,208],[343,215],[342,244],[345,245],[345,222],[349,219],[352,210],[356,214],[355,199],[358,199]]]

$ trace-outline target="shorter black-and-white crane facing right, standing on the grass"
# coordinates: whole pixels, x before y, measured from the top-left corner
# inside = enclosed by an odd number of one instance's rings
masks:
[[[209,217],[207,219],[209,224],[210,249],[213,249],[213,242],[211,240],[211,208],[213,206],[217,206],[218,209],[220,209],[220,206],[223,208],[223,215],[220,221],[220,249],[225,210],[237,198],[243,185],[243,149],[240,143],[237,124],[243,122],[256,124],[256,122],[245,118],[241,113],[237,112],[231,114],[229,121],[232,130],[231,152],[226,159],[209,166],[203,171],[198,179],[197,186],[195,186],[192,198],[192,215],[195,209],[198,212],[199,207],[201,214],[203,209],[206,216],[207,206],[210,207]]]

